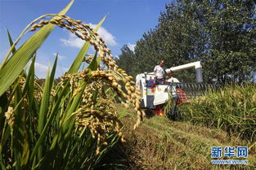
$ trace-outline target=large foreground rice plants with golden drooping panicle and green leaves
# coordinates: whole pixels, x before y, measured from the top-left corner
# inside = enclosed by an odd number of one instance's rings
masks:
[[[142,120],[139,89],[132,76],[118,68],[110,49],[96,33],[106,17],[92,29],[65,15],[73,2],[59,14],[38,17],[16,41],[12,42],[9,35],[11,48],[0,68],[1,169],[97,168],[106,151],[119,139],[124,141],[115,95],[125,107],[128,100],[137,111],[134,128]],[[54,80],[56,56],[43,85],[38,85],[36,51],[55,26],[86,42],[59,83]],[[20,38],[36,30],[16,50]],[[97,52],[84,59],[91,45]],[[80,71],[83,61],[88,66]]]

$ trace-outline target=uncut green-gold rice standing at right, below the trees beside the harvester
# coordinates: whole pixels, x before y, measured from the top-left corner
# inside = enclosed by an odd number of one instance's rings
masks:
[[[230,134],[255,142],[256,86],[227,86],[217,92],[210,91],[179,109],[185,120],[195,124],[224,129]]]

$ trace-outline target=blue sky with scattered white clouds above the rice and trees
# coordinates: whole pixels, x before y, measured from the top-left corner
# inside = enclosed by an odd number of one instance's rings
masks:
[[[40,15],[58,13],[69,2],[69,0],[0,0],[0,63],[9,49],[7,28],[12,39],[15,40],[30,21]],[[125,44],[132,49],[143,33],[155,28],[158,24],[159,11],[164,11],[164,4],[169,2],[170,0],[75,0],[66,15],[93,26],[109,14],[99,32],[112,50],[112,54],[117,56]],[[29,36],[31,33],[22,38],[20,44]],[[53,63],[54,55],[59,53],[61,59],[57,76],[60,76],[70,67],[82,44],[83,41],[79,41],[68,31],[55,28],[42,48],[38,50],[37,75],[44,77],[47,65]]]

